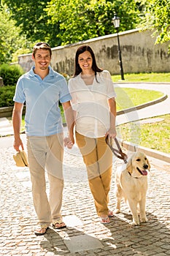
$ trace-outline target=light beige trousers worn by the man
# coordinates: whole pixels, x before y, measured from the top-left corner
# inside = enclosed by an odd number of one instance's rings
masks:
[[[63,134],[27,137],[34,208],[41,225],[61,220],[63,195]],[[46,192],[45,169],[50,183]]]

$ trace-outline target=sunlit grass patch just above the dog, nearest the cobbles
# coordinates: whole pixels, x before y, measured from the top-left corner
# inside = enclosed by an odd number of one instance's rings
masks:
[[[170,115],[121,124],[117,129],[123,140],[170,154]]]

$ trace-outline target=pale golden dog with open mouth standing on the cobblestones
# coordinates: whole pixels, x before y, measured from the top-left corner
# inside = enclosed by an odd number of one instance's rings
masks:
[[[120,212],[121,199],[128,200],[133,216],[133,225],[139,225],[139,216],[140,222],[147,222],[145,214],[147,170],[150,170],[150,163],[146,155],[142,152],[136,152],[128,160],[128,163],[121,166],[116,173],[117,204],[115,213]]]

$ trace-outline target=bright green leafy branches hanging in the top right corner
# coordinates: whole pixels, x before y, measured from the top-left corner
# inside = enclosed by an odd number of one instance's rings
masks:
[[[170,40],[170,1],[169,0],[144,0],[145,5],[142,27],[153,30],[156,37],[155,43]],[[169,45],[170,51],[170,45]]]

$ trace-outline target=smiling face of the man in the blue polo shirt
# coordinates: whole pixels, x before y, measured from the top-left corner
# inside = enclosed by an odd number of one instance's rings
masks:
[[[35,57],[32,56],[32,59],[35,62],[35,67],[41,70],[48,69],[50,65],[50,52],[49,50],[38,49],[36,50]]]

